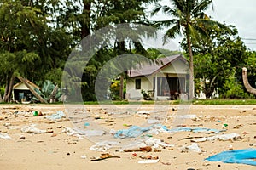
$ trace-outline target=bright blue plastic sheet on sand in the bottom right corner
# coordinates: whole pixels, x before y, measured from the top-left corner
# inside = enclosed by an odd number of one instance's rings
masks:
[[[222,161],[224,163],[241,163],[256,166],[256,149],[228,150],[210,156],[207,161]]]

